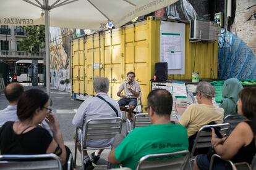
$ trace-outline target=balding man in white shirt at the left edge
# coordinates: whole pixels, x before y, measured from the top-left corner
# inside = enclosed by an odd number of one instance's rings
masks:
[[[9,105],[0,111],[0,126],[6,121],[17,121],[17,103],[20,95],[24,92],[24,88],[19,83],[11,83],[4,89],[4,95],[9,101]]]

